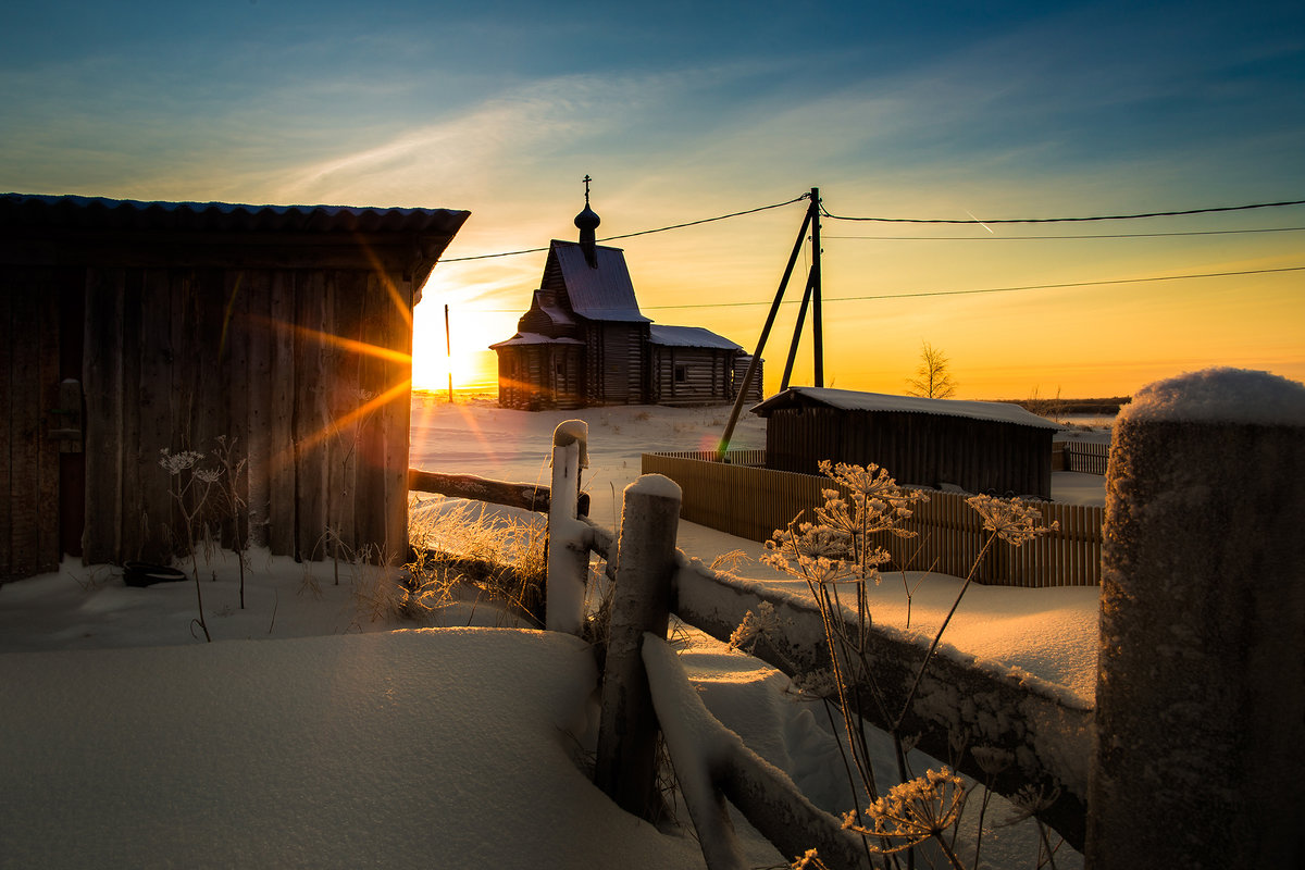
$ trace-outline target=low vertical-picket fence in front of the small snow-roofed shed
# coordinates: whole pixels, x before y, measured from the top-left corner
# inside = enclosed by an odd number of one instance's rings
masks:
[[[773,471],[750,463],[763,450],[727,454],[711,462],[710,453],[643,454],[643,473],[666,475],[680,485],[680,518],[736,537],[765,541],[795,518],[810,519],[823,503],[822,492],[838,488],[829,477]],[[1104,509],[1036,502],[1044,524],[1058,528],[1021,548],[998,541],[979,567],[976,580],[993,586],[1096,586],[1101,582],[1101,523]],[[929,492],[929,501],[902,523],[916,537],[883,536],[899,570],[933,570],[966,577],[987,535],[966,496]]]

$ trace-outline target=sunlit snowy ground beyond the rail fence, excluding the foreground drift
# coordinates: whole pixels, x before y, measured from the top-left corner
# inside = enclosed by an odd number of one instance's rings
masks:
[[[587,408],[529,413],[495,407],[489,399],[450,406],[432,397],[414,402],[412,462],[431,471],[548,485],[552,432],[559,423],[576,416],[589,421],[590,468],[582,483],[592,500],[590,515],[615,528],[621,513],[621,492],[639,476],[639,454],[714,450],[729,408]],[[467,438],[468,430],[471,438]],[[1077,429],[1065,434],[1070,433],[1108,441],[1107,429]],[[450,449],[449,445],[455,446]],[[765,420],[744,412],[731,446],[765,447]],[[1054,472],[1052,498],[1074,505],[1104,505],[1105,479]],[[795,595],[806,593],[803,580],[761,565],[763,547],[760,543],[680,523],[679,545],[709,565],[723,553],[739,550],[745,561],[733,573]],[[947,575],[907,573],[903,578],[889,574],[872,592],[872,613],[880,625],[932,638],[959,586],[958,578]],[[910,622],[907,587],[914,590]],[[980,659],[1028,670],[1091,703],[1096,690],[1098,597],[1096,587],[971,586],[947,626],[946,642]]]

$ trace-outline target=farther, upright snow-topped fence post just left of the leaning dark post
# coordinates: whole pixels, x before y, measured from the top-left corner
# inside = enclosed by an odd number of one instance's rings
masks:
[[[576,519],[579,471],[589,467],[589,424],[565,420],[553,429],[553,473],[548,503],[548,580],[544,625],[579,634],[589,582],[587,527]]]

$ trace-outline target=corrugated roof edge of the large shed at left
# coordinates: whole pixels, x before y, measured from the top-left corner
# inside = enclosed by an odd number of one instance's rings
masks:
[[[142,202],[104,197],[0,194],[0,224],[115,230],[429,232],[450,237],[470,211],[326,205]]]

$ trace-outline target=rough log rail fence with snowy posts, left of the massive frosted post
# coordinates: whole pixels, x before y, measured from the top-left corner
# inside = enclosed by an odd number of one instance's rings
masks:
[[[553,437],[549,496],[573,492],[585,464],[583,441],[587,433],[583,429],[564,429],[566,425],[559,427]],[[739,451],[729,458],[733,462],[745,458],[757,460],[762,453]],[[692,455],[689,462],[701,463]],[[737,464],[701,464],[762,471]],[[433,481],[440,492],[450,485],[462,485],[457,480],[450,483],[436,477],[454,476],[423,477],[414,471],[415,480]],[[812,492],[818,497],[822,479],[806,475],[786,477],[808,477],[805,485],[817,487]],[[457,494],[492,502],[499,502],[504,493],[517,498],[514,484],[482,487],[480,483],[484,481],[476,481],[474,492],[463,487]],[[530,507],[549,514],[547,627],[578,631],[583,622],[583,587],[590,577],[590,553],[606,560],[604,573],[616,583],[595,783],[630,811],[642,814],[652,809],[655,801],[642,797],[647,793],[649,771],[655,764],[654,741],[647,738],[647,727],[651,724],[656,729],[662,725],[655,717],[649,717],[649,711],[660,708],[664,713],[669,710],[673,715],[667,719],[681,737],[686,727],[680,720],[692,720],[689,730],[710,733],[709,742],[718,750],[703,755],[675,734],[667,734],[675,768],[681,781],[692,784],[688,790],[693,796],[690,800],[686,794],[686,801],[690,802],[690,818],[710,870],[746,866],[724,814],[727,798],[787,856],[818,845],[821,857],[830,867],[868,866],[865,852],[857,848],[855,836],[842,830],[839,819],[813,806],[792,780],[744,746],[737,736],[702,708],[701,702],[693,704],[686,700],[697,699],[697,695],[683,669],[671,667],[673,661],[667,664],[666,660],[673,660],[673,653],[664,643],[650,644],[649,640],[664,637],[667,612],[727,640],[749,610],[770,604],[779,610],[783,623],[792,626],[791,637],[786,631],[783,637],[769,638],[760,644],[756,655],[780,669],[799,668],[803,673],[814,673],[829,665],[825,644],[810,643],[810,638],[823,631],[820,612],[801,595],[744,587],[737,578],[714,571],[675,550],[673,518],[681,511],[677,505],[664,511],[656,502],[679,501],[683,488],[669,494],[660,484],[647,479],[642,479],[641,484],[626,489],[626,500],[639,490],[642,501],[626,505],[622,517],[630,518],[630,522],[617,532],[577,515],[577,505],[569,497],[545,501],[539,497],[543,493],[531,494]],[[827,481],[823,485],[827,488]],[[619,552],[634,557],[619,560]],[[656,588],[645,588],[649,584]],[[641,634],[650,626],[651,634]],[[894,693],[904,691],[908,677],[919,669],[925,655],[924,647],[893,629],[870,626],[868,631],[882,673],[891,674],[883,685],[895,686]],[[632,667],[636,660],[647,661],[650,656],[663,659],[655,668],[656,674],[642,665]],[[958,691],[964,700],[959,707],[954,703]],[[869,697],[869,689],[863,686],[861,694]],[[894,694],[890,700],[898,703],[900,699]],[[860,712],[872,724],[883,724],[874,717],[873,710]],[[643,721],[636,723],[636,719]],[[1040,787],[1060,794],[1039,811],[1039,817],[1081,849],[1087,811],[1084,796],[1091,719],[1090,704],[1066,698],[1057,687],[1040,680],[994,673],[972,661],[938,656],[924,676],[917,699],[903,724],[919,734],[921,750],[940,758],[947,755],[958,727],[983,745],[1011,751],[1018,763],[996,777],[989,777],[970,755],[958,759],[955,767],[976,779],[990,779],[993,790],[1007,796],[1023,787]]]

